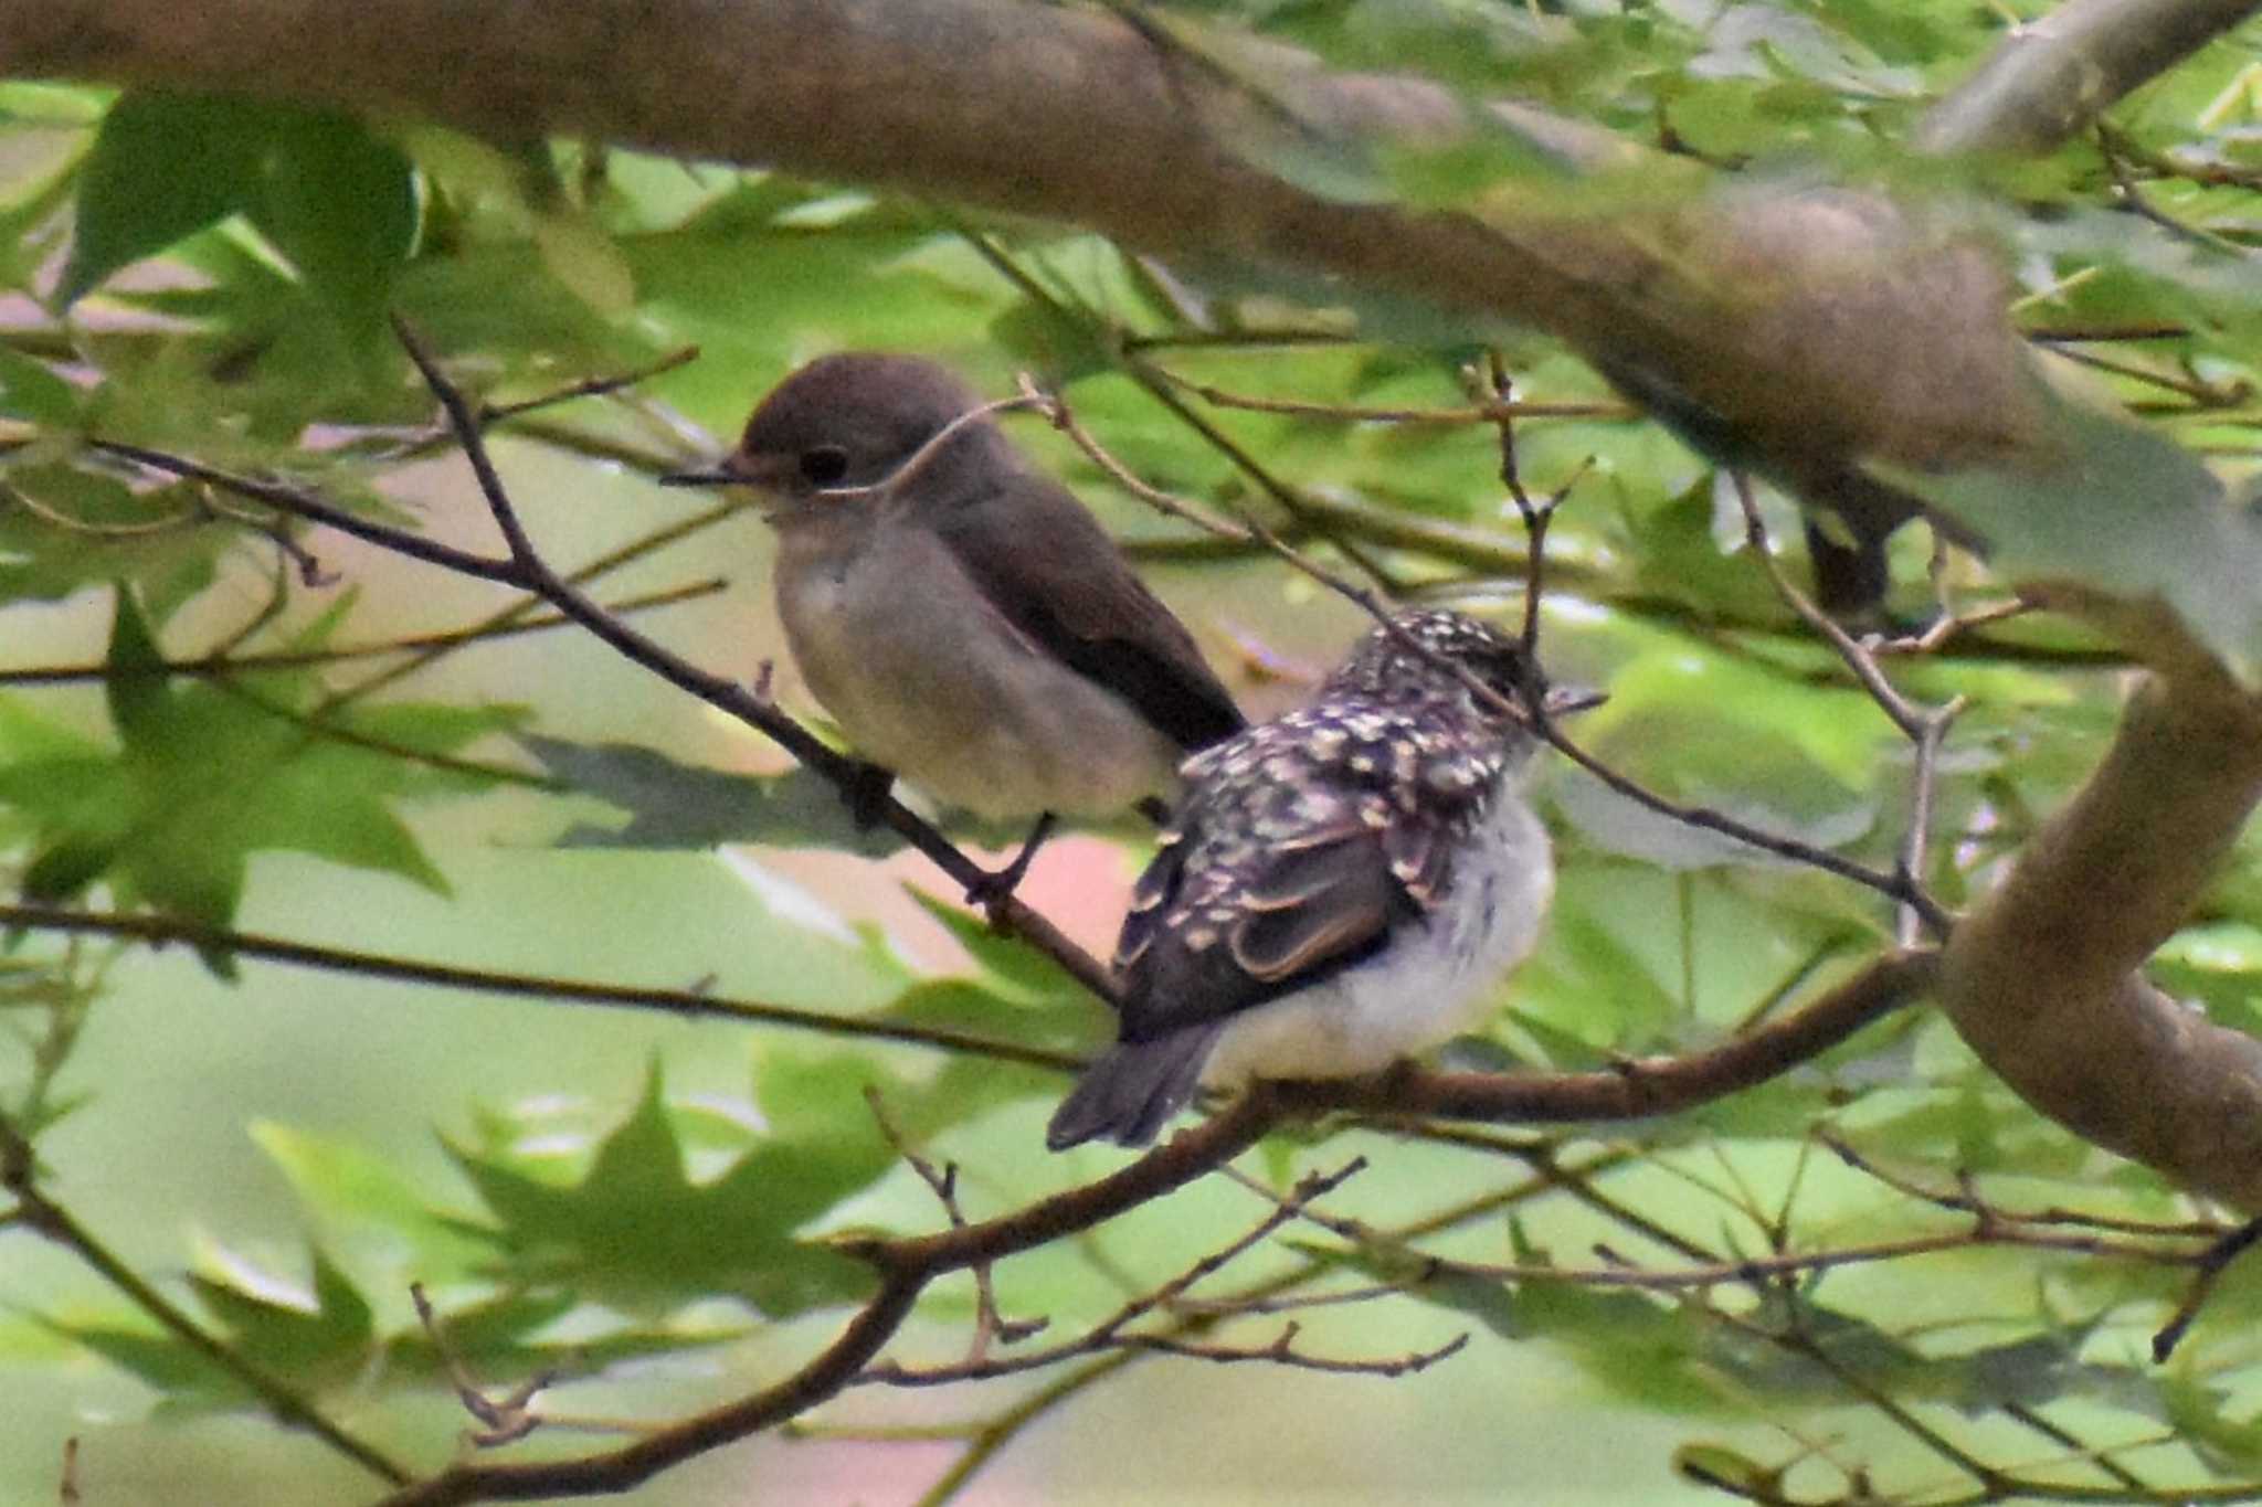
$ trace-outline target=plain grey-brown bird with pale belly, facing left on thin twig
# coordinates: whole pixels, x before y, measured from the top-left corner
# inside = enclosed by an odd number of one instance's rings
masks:
[[[665,481],[762,493],[794,662],[864,759],[977,816],[1041,818],[1000,888],[1054,813],[1158,816],[1179,761],[1242,728],[1106,531],[932,361],[810,361],[717,468]]]

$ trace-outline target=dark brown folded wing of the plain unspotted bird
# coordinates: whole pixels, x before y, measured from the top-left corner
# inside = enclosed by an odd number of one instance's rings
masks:
[[[1056,481],[1013,477],[952,508],[939,533],[1007,621],[1122,696],[1179,748],[1242,730],[1240,707],[1194,637]]]

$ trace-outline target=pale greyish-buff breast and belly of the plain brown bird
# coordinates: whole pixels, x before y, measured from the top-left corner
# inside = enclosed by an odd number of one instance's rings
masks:
[[[846,558],[778,556],[778,617],[855,746],[988,818],[1106,816],[1174,789],[1181,750],[988,610],[948,549],[891,529]]]

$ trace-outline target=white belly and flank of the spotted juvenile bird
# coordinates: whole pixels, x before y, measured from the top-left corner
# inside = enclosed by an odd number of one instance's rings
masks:
[[[1504,791],[1482,840],[1457,854],[1443,906],[1366,962],[1235,1017],[1201,1082],[1359,1078],[1475,1028],[1538,944],[1552,895],[1547,829]]]

